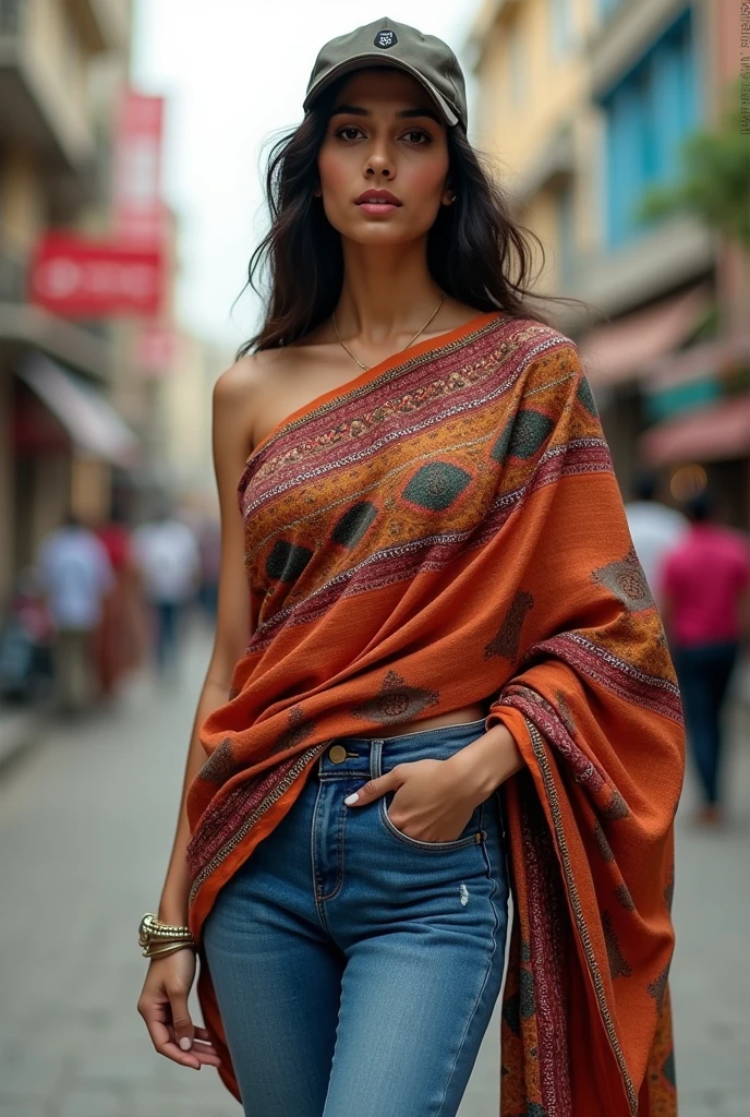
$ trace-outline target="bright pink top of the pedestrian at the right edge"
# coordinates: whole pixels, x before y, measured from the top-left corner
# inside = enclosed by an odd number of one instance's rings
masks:
[[[750,584],[750,544],[718,524],[693,524],[664,561],[661,590],[671,604],[674,643],[733,642]]]

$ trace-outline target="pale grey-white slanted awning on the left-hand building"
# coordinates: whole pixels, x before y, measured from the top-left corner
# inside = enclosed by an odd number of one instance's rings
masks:
[[[136,435],[96,388],[41,353],[16,371],[85,454],[123,468],[141,460]]]

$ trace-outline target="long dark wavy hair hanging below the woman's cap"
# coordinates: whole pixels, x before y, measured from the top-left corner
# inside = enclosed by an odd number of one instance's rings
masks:
[[[312,191],[318,183],[318,151],[347,76],[324,90],[301,124],[282,133],[271,149],[266,171],[271,225],[248,268],[248,284],[263,297],[266,314],[235,360],[289,345],[336,309],[344,278],[342,238]],[[472,147],[463,126],[448,127],[446,135],[456,200],[441,206],[427,233],[430,274],[442,290],[478,312],[499,309],[547,322],[526,305],[529,298],[558,300],[530,290],[538,275],[531,277],[531,241],[539,248],[539,270],[545,259],[541,241],[512,219],[504,192],[484,165],[487,156]],[[256,283],[259,271],[266,277],[265,292]]]

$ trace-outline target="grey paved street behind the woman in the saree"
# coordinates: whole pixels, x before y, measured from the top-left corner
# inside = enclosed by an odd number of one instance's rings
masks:
[[[2,1117],[240,1113],[213,1070],[195,1078],[155,1056],[135,1011],[146,966],[135,942],[137,919],[156,904],[162,885],[208,655],[208,640],[194,639],[182,686],[158,694],[147,680],[138,682],[116,712],[51,733],[3,773]],[[673,997],[681,1117],[748,1114],[747,731],[747,718],[741,725],[737,715],[731,829],[711,837],[691,831],[690,777],[677,814]],[[497,1117],[498,1028],[496,1012],[462,1117]]]

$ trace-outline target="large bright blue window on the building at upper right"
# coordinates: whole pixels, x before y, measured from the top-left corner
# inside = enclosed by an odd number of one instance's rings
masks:
[[[644,191],[679,173],[680,147],[698,124],[696,82],[689,10],[603,99],[610,246],[640,230]]]

